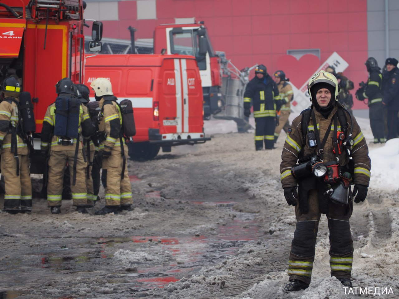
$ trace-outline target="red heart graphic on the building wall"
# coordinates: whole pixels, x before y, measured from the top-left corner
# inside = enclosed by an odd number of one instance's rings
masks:
[[[282,55],[277,59],[277,69],[284,71],[285,77],[296,88],[302,87],[320,67],[320,59],[313,54],[305,54],[300,59],[292,55]]]

